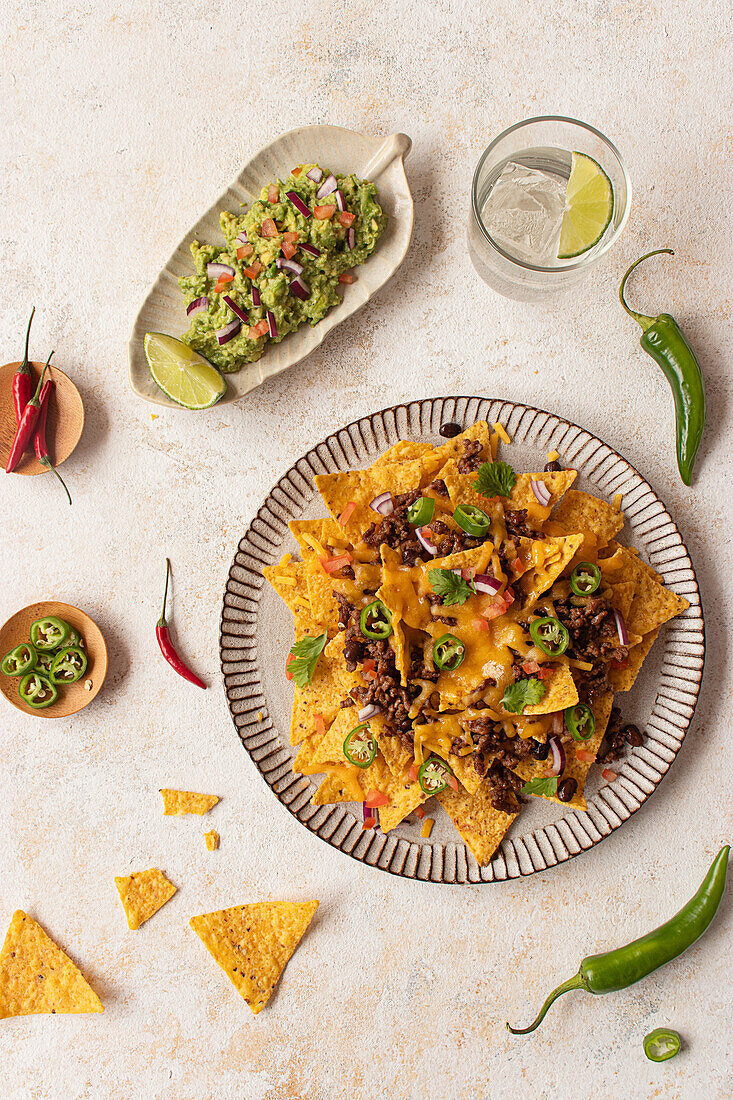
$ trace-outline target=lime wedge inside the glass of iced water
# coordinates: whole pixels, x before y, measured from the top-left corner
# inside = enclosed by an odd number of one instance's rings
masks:
[[[605,233],[613,217],[613,186],[592,156],[572,154],[558,260],[582,256]]]

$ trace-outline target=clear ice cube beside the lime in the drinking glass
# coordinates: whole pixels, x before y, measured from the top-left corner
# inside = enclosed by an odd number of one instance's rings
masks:
[[[550,266],[557,258],[566,189],[567,180],[510,161],[483,205],[483,223],[517,260]]]

